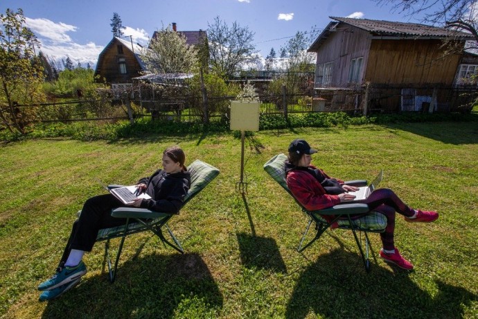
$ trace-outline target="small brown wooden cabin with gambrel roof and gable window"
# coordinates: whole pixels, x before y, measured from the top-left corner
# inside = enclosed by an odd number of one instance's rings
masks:
[[[95,69],[95,77],[99,76],[97,81],[106,81],[112,87],[130,85],[132,78],[141,76],[141,72],[146,70],[141,60],[144,50],[139,44],[113,37],[98,57]]]

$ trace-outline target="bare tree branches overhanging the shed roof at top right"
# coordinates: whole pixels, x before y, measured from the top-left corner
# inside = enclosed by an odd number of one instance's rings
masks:
[[[445,26],[452,31],[466,31],[475,40],[468,49],[478,49],[478,2],[476,0],[373,0],[378,5],[391,5],[393,11],[409,17],[422,16],[425,24]]]

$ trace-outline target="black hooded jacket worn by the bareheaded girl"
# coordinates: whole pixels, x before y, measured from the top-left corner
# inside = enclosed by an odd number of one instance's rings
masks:
[[[182,171],[168,174],[159,169],[149,178],[139,180],[139,183],[146,184],[146,193],[151,196],[150,199],[143,199],[141,208],[177,214],[191,186],[191,173]]]

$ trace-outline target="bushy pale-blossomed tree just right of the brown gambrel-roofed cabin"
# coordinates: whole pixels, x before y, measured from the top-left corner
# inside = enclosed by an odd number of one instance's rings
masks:
[[[197,71],[199,60],[195,46],[186,44],[181,33],[162,28],[155,33],[150,49],[142,56],[146,69],[154,74],[191,73]]]

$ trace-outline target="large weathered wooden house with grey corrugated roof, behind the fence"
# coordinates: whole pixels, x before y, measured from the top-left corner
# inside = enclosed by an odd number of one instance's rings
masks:
[[[330,17],[331,21],[308,49],[317,53],[317,90],[363,89],[348,97],[364,110],[439,110],[454,107],[453,87],[459,81],[463,48],[472,35],[423,24]],[[444,40],[452,39],[448,52]],[[457,50],[458,48],[458,50]],[[469,70],[478,71],[478,68]],[[336,91],[336,92],[338,92]],[[371,95],[368,95],[371,94]],[[336,103],[346,94],[333,94]],[[332,101],[333,103],[334,101]],[[456,103],[455,103],[456,104]]]

